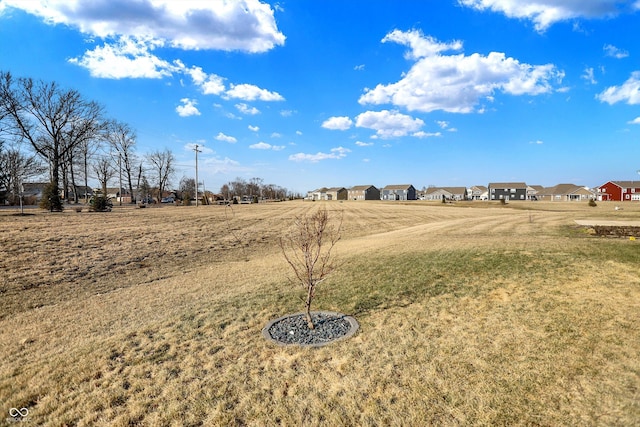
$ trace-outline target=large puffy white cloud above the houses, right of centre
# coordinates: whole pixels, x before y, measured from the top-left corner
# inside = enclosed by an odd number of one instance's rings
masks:
[[[358,100],[363,105],[470,113],[481,99],[493,99],[496,91],[510,95],[549,93],[553,91],[551,82],[564,77],[554,65],[529,65],[500,52],[445,55],[461,50],[462,43],[440,43],[417,30],[395,30],[382,41],[407,45],[410,49],[405,56],[416,62],[400,81],[367,89]]]

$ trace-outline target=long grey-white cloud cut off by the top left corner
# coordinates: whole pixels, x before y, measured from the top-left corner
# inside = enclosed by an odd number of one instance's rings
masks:
[[[285,41],[271,6],[259,0],[4,0],[2,5],[102,39],[152,39],[184,50],[266,52]]]

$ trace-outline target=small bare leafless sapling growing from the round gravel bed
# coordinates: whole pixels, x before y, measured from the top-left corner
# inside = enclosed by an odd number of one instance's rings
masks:
[[[340,240],[339,224],[333,225],[325,208],[311,215],[296,217],[292,229],[280,238],[280,248],[293,270],[293,283],[305,289],[305,315],[309,329],[314,329],[311,318],[311,303],[316,286],[323,282],[336,267],[333,248]]]

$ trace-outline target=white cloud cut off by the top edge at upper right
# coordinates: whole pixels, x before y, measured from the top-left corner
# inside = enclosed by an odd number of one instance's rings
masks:
[[[476,10],[501,12],[509,18],[529,19],[536,31],[576,18],[606,18],[620,12],[618,6],[629,3],[616,0],[458,0]]]

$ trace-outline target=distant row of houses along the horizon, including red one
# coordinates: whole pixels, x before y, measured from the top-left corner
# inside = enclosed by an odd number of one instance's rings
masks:
[[[417,190],[411,184],[356,185],[351,188],[318,188],[307,193],[306,200],[543,200],[551,202],[571,201],[640,201],[640,181],[607,181],[595,188],[575,184],[558,184],[554,187],[528,185],[524,182],[492,182],[486,187],[429,186]]]

